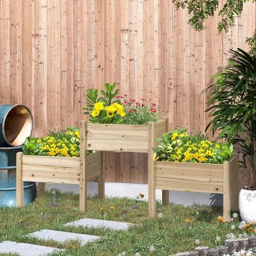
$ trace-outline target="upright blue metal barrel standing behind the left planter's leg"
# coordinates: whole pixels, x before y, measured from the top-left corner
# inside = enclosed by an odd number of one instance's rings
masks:
[[[16,153],[22,147],[0,147],[0,206],[16,205]],[[24,182],[24,204],[36,196],[35,182]]]

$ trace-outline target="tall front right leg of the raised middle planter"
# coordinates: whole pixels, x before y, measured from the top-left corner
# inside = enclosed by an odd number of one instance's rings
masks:
[[[148,215],[150,218],[156,217],[156,189],[154,186],[154,123],[148,124]]]

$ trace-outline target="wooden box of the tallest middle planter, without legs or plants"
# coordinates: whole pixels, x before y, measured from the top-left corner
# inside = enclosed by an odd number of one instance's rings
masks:
[[[155,138],[166,132],[167,118],[147,125],[86,123],[86,147],[88,150],[113,152],[151,152]]]

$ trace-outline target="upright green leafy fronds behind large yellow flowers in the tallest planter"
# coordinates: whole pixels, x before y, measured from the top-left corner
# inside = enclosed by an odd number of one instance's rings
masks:
[[[119,100],[115,100],[116,95],[118,95],[119,90],[115,90],[116,83],[109,84],[105,83],[104,88],[105,90],[100,90],[100,97],[99,97],[99,90],[89,88],[86,91],[86,108],[83,108],[84,115],[90,115],[94,108],[94,104],[97,102],[104,102],[106,106],[110,106],[114,102],[119,102]]]

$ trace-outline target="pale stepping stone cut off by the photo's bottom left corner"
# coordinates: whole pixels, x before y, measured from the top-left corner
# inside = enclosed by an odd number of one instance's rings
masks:
[[[20,256],[42,256],[56,250],[60,249],[36,244],[15,243],[11,241],[3,241],[0,243],[0,253],[18,253]]]

